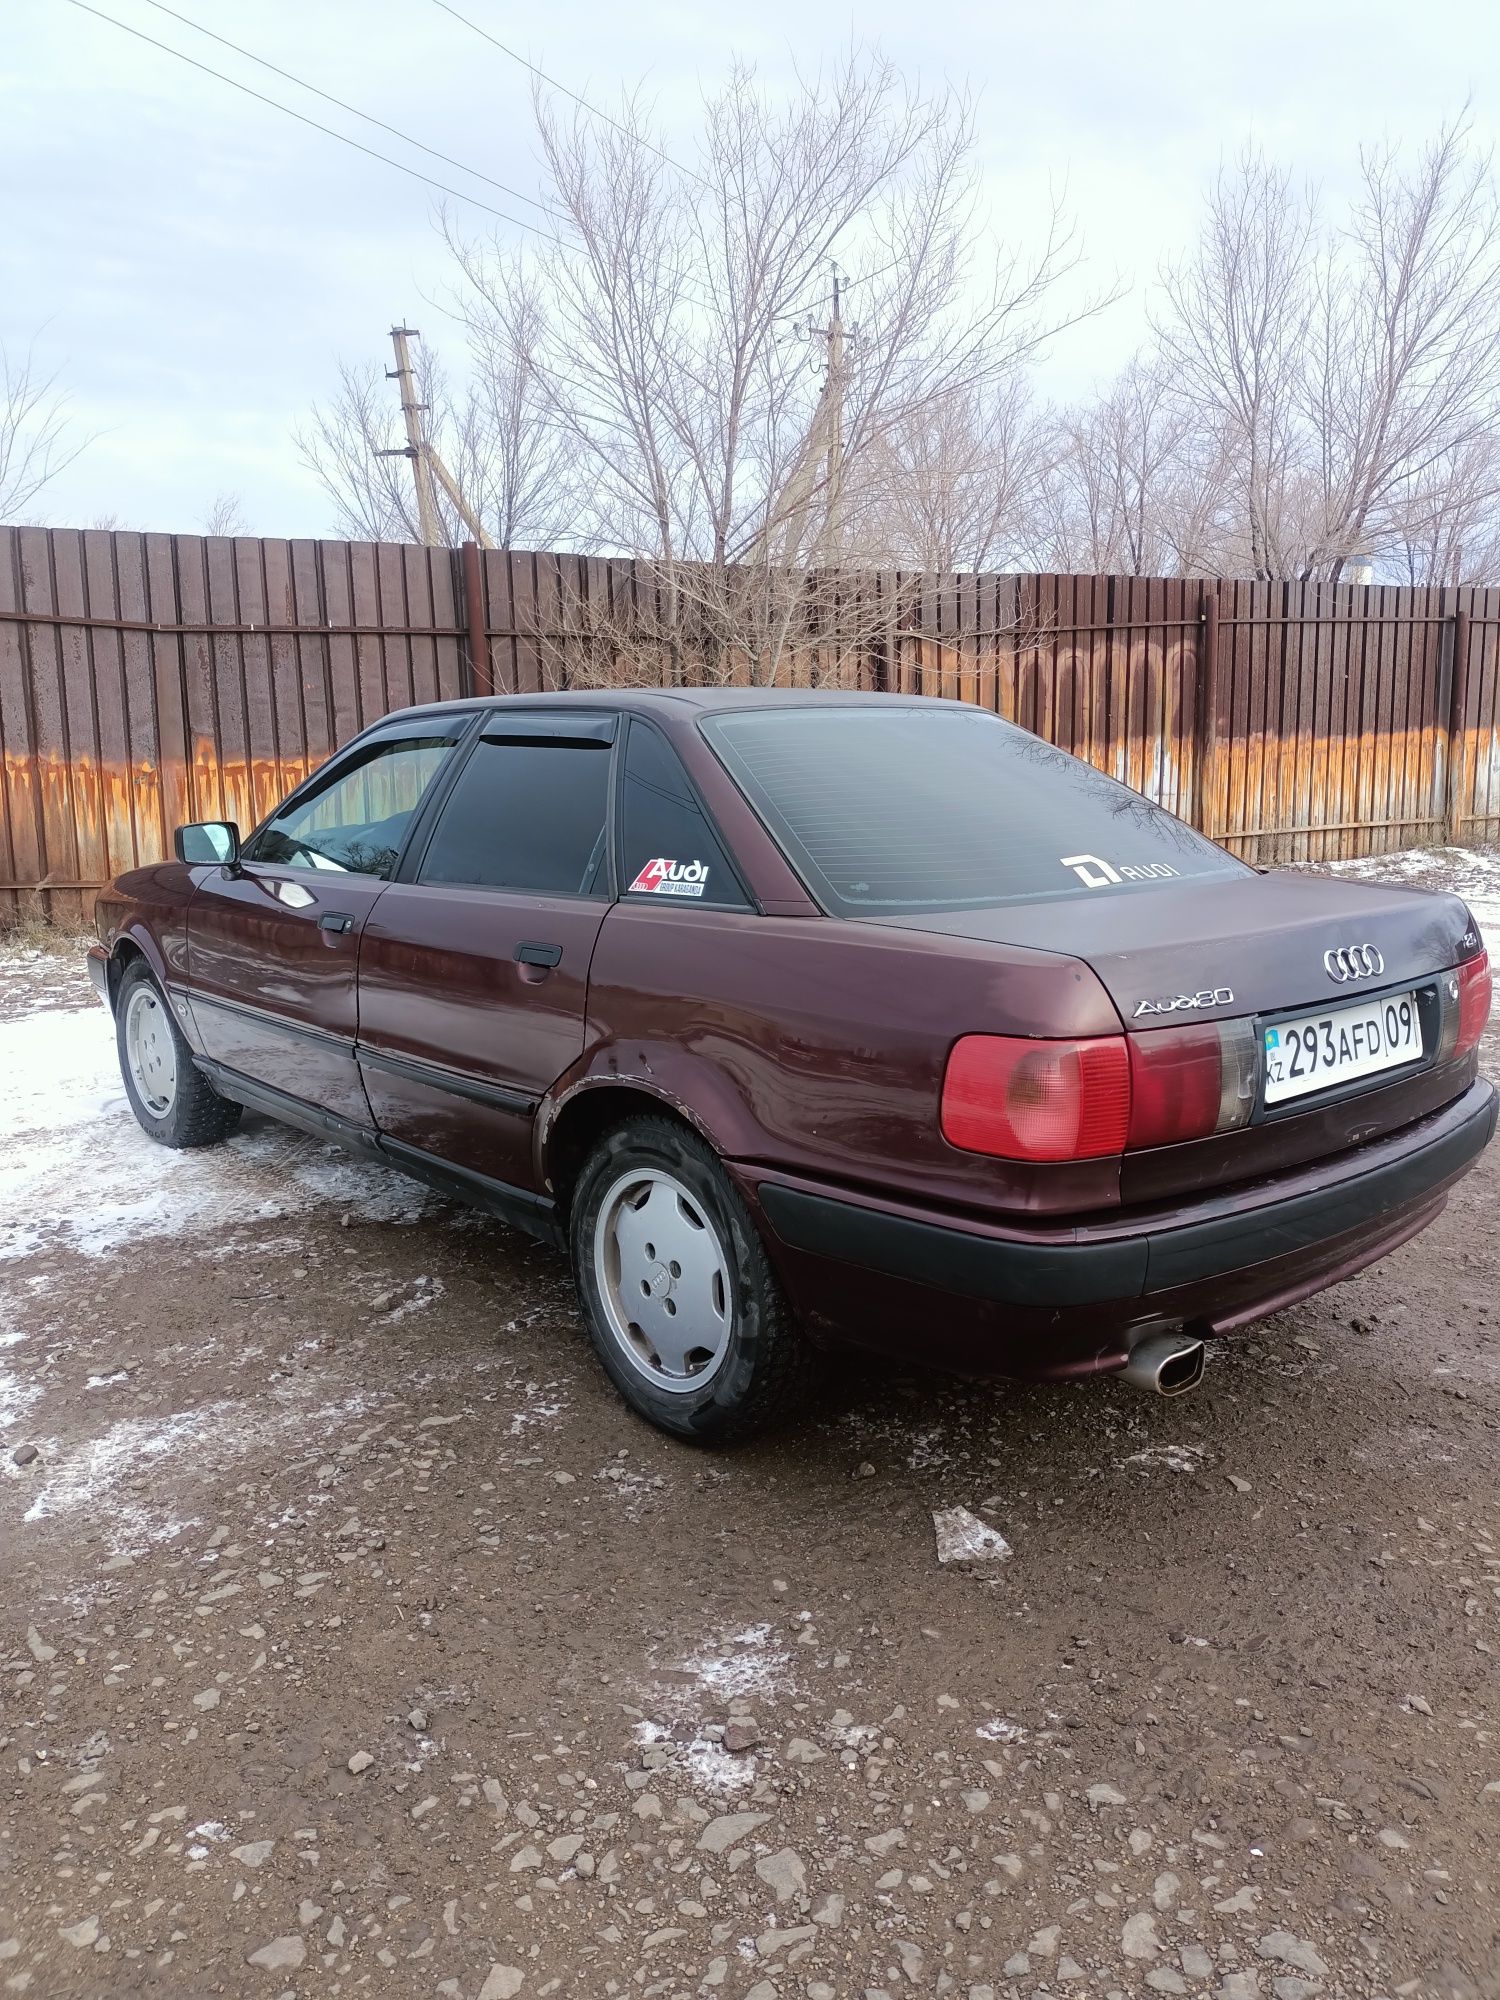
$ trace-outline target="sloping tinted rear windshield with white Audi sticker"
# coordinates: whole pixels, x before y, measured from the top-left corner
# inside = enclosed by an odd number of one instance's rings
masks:
[[[982,710],[758,708],[706,734],[838,916],[1128,896],[1244,862]]]

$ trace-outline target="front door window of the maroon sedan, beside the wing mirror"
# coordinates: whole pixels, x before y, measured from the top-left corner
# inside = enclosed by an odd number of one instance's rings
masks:
[[[248,844],[246,860],[388,882],[406,828],[466,726],[468,716],[420,736],[362,744],[274,814]]]

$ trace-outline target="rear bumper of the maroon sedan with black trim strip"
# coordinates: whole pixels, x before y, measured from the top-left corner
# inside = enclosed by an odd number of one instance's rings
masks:
[[[814,1330],[922,1358],[938,1348],[982,1372],[1084,1374],[1122,1366],[1146,1326],[1224,1332],[1352,1276],[1432,1220],[1494,1126],[1496,1094],[1476,1082],[1336,1160],[1062,1230],[982,1226],[780,1176],[756,1176],[752,1196]],[[906,1338],[892,1314],[906,1316]]]

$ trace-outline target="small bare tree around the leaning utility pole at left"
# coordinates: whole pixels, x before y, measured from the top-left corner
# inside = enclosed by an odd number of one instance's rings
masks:
[[[514,348],[478,344],[462,392],[430,346],[416,352],[426,436],[500,548],[554,546],[574,528],[570,454],[536,394],[524,334],[522,320]],[[296,432],[302,462],[334,502],[338,532],[352,540],[420,540],[410,460],[380,456],[404,446],[400,402],[374,364],[340,366],[332,400]],[[456,546],[468,528],[442,492],[438,512]]]

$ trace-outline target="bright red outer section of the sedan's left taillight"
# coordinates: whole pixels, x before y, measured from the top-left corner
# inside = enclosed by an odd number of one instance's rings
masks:
[[[1000,1160],[1098,1160],[1130,1128],[1130,1058],[1122,1034],[1032,1042],[966,1034],[942,1080],[942,1136]]]

